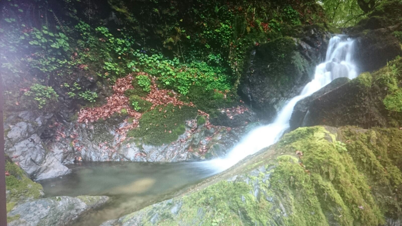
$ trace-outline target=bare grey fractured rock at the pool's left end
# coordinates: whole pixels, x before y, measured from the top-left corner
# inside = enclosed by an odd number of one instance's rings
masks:
[[[67,174],[70,170],[57,160],[56,153],[43,146],[41,134],[51,114],[22,111],[5,120],[5,151],[30,177],[45,179]]]

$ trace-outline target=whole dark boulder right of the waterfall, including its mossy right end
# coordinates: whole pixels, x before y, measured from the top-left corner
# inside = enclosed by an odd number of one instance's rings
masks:
[[[302,125],[401,127],[401,84],[402,59],[397,58],[378,71],[362,73],[329,91],[323,88],[298,102],[290,120],[291,128]]]

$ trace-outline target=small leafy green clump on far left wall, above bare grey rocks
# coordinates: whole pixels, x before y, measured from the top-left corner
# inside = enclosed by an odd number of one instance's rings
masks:
[[[59,96],[52,87],[38,83],[33,84],[24,95],[28,101],[34,102],[38,109],[42,109],[46,105],[53,105],[58,101],[57,97]]]

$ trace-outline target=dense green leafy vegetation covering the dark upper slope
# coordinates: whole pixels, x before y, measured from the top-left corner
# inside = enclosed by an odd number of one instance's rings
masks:
[[[183,95],[191,86],[229,92],[248,48],[323,21],[314,1],[8,0],[0,30],[3,76],[13,77],[7,106],[94,102],[99,83],[140,71]],[[149,78],[137,80],[149,91]]]

